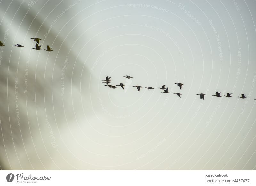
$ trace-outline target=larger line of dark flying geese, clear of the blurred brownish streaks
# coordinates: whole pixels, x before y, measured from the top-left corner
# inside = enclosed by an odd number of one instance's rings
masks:
[[[107,85],[105,85],[105,86],[108,86],[109,88],[115,89],[115,88],[117,88],[117,86],[120,86],[122,89],[124,89],[124,86],[125,86],[124,83],[120,83],[119,85],[116,85],[116,86],[111,85],[111,82],[112,82],[112,81],[110,80],[110,78],[111,78],[111,77],[108,77],[108,76],[107,76],[106,79],[102,79],[102,83],[106,83]],[[128,79],[130,79],[130,78],[133,78],[133,77],[126,75],[126,76],[123,76],[123,78],[128,78]],[[182,85],[183,85],[182,83],[174,83],[174,84],[177,84],[177,86],[180,87],[180,90],[182,89]],[[166,86],[166,85],[162,85],[161,87],[158,87],[158,88],[164,90],[164,91],[161,91],[161,93],[170,93],[170,92],[168,92],[168,91],[169,91],[169,90],[168,90],[168,87],[165,88],[165,86]],[[140,85],[133,86],[133,87],[137,87],[137,90],[138,90],[138,91],[140,91],[140,88],[143,88],[143,87],[140,86]],[[147,88],[148,90],[154,89],[154,88],[152,88],[152,87],[144,87],[144,88]],[[176,95],[179,96],[180,98],[181,98],[180,95],[182,95],[181,93],[173,93],[173,94],[176,94]],[[196,94],[196,95],[200,95],[200,99],[203,99],[203,100],[204,100],[204,96],[206,96],[206,94],[204,94],[204,93],[199,93],[199,94]],[[221,97],[220,92],[218,92],[218,91],[216,91],[215,95],[212,95],[212,96]],[[226,95],[224,95],[224,97],[230,98],[230,97],[232,97],[232,93],[226,93]],[[244,94],[241,94],[241,97],[238,96],[238,98],[245,99],[245,98],[247,98],[247,97],[246,97]],[[256,100],[256,99],[254,99],[254,100]]]

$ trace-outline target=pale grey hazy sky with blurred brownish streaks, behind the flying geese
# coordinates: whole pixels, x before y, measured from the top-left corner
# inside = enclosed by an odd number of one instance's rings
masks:
[[[0,1],[0,168],[256,170],[255,4]]]

